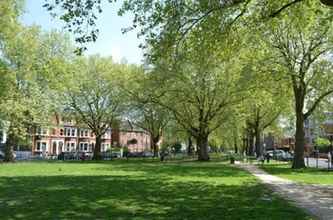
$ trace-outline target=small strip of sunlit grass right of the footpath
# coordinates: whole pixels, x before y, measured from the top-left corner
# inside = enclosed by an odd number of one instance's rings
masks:
[[[333,184],[333,171],[326,169],[305,168],[291,169],[290,163],[272,163],[260,167],[266,172],[300,183]]]

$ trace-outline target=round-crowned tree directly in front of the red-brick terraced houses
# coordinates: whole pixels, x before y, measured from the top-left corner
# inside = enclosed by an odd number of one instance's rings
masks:
[[[94,160],[101,159],[102,136],[121,114],[121,71],[111,59],[95,56],[69,64],[67,74],[58,78],[64,107],[95,134]]]

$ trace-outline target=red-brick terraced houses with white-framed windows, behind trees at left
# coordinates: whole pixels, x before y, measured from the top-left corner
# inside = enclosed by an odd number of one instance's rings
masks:
[[[88,127],[58,115],[50,125],[37,127],[32,134],[32,153],[44,157],[62,152],[93,152],[94,146],[95,135]],[[149,151],[150,135],[133,126],[110,128],[102,137],[101,151],[108,151],[111,146],[127,147],[130,152]]]

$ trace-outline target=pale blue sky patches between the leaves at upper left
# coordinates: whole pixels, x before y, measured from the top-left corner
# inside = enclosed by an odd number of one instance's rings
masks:
[[[52,18],[48,12],[42,8],[45,0],[25,0],[25,14],[21,20],[26,25],[36,24],[44,30],[62,30],[63,24]],[[131,16],[117,16],[118,5],[105,3],[104,11],[98,17],[98,28],[100,30],[97,42],[88,45],[87,54],[101,54],[102,56],[112,56],[119,62],[125,58],[129,63],[141,63],[142,52],[138,48],[140,40],[137,33],[122,34],[121,29],[131,24]]]

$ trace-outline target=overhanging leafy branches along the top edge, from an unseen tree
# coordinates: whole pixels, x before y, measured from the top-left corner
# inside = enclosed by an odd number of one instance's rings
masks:
[[[103,12],[103,7],[108,6],[103,4],[105,2],[115,1],[47,0],[43,6],[52,15],[57,15],[59,19],[64,21],[67,30],[75,34],[76,41],[81,44],[77,52],[81,53],[86,49],[85,44],[87,42],[96,41],[98,37],[99,29],[96,21],[98,14]],[[139,28],[139,35],[145,37],[148,45],[155,45],[157,49],[162,41],[164,46],[172,47],[178,44],[196,26],[211,19],[219,20],[220,24],[227,24],[224,25],[224,31],[228,32],[230,26],[241,20],[246,22],[249,19],[256,19],[257,22],[265,22],[270,18],[283,15],[285,11],[298,5],[306,5],[307,2],[309,0],[200,2],[125,0],[118,14],[133,13],[133,24],[131,27],[124,27],[124,32]],[[328,0],[317,0],[317,2],[332,5]],[[319,4],[317,5],[319,6]],[[163,53],[163,50],[161,48],[159,52]]]

